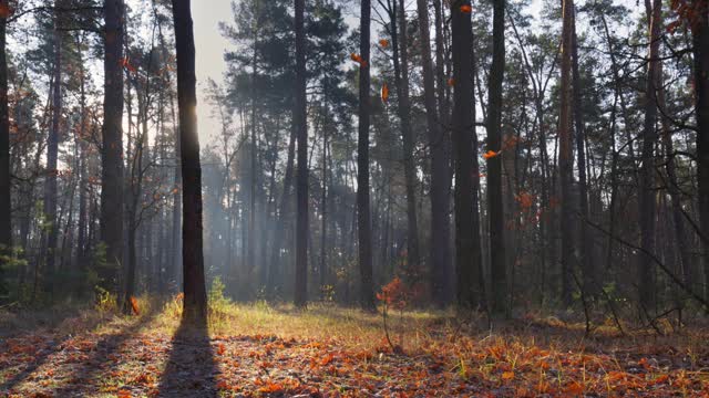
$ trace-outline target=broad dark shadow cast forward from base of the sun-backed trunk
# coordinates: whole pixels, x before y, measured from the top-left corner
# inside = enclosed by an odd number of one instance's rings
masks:
[[[160,381],[158,397],[217,397],[219,374],[206,324],[181,322]]]

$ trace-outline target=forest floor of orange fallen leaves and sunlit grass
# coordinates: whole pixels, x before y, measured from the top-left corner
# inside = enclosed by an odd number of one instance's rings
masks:
[[[0,313],[0,397],[709,396],[706,325],[585,337],[538,314],[490,329],[407,312],[389,317],[392,349],[358,310],[223,304],[206,332],[176,301],[140,305]]]

